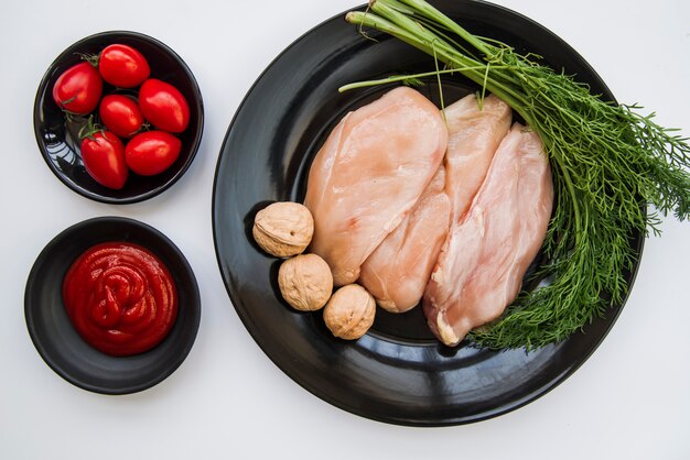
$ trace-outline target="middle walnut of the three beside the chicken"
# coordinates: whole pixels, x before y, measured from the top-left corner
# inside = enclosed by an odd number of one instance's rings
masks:
[[[328,264],[316,254],[300,254],[284,261],[278,271],[280,293],[301,311],[322,308],[331,298],[333,275]]]

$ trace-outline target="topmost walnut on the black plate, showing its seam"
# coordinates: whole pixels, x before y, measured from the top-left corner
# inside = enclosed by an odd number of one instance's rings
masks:
[[[263,251],[289,258],[301,254],[312,241],[314,218],[299,202],[273,202],[257,212],[251,233]]]

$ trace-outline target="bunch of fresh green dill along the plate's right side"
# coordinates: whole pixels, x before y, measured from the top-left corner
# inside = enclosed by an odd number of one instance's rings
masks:
[[[628,289],[630,236],[659,233],[660,215],[690,216],[690,146],[637,106],[471,34],[423,0],[371,0],[346,20],[388,33],[506,101],[541,138],[553,173],[554,212],[543,242],[542,282],[471,333],[489,348],[532,349],[581,330]],[[348,88],[357,85],[348,85]],[[654,208],[647,210],[646,205]]]

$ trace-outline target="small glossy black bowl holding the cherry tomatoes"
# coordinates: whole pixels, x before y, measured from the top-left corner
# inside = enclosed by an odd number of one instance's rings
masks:
[[[69,120],[53,100],[53,85],[57,77],[82,61],[80,55],[98,54],[106,46],[121,43],[137,48],[149,62],[151,77],[175,86],[190,105],[190,124],[180,133],[182,150],[175,163],[154,176],[130,175],[119,190],[104,187],[94,180],[82,162],[78,130],[86,117]],[[137,90],[122,90],[104,84],[104,96],[112,92],[133,95]],[[95,110],[97,112],[98,109]],[[33,110],[36,142],[51,171],[67,187],[79,195],[108,204],[142,201],[172,186],[190,167],[196,155],[204,128],[204,106],[196,79],[187,65],[174,51],[150,36],[126,31],[103,32],[87,36],[69,46],[51,64],[43,76]]]

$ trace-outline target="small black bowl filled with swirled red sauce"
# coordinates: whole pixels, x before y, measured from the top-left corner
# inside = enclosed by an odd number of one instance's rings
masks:
[[[41,251],[26,280],[24,316],[39,354],[60,376],[95,393],[128,394],[162,382],[185,360],[201,296],[184,254],[162,232],[98,217]]]

